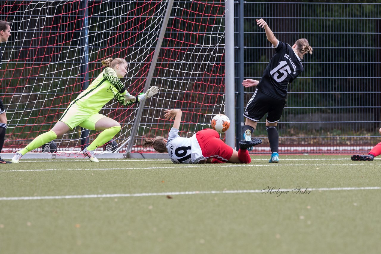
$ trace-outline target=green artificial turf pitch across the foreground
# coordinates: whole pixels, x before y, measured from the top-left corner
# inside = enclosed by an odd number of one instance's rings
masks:
[[[0,165],[0,253],[379,253],[381,160],[252,159]]]

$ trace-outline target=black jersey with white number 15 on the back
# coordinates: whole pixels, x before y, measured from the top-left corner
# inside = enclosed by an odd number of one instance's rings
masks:
[[[290,45],[278,42],[275,54],[264,70],[258,83],[258,89],[268,96],[284,100],[287,97],[287,85],[303,72],[303,65]]]

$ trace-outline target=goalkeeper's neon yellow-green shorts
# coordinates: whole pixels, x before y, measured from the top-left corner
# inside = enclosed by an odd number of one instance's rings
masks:
[[[66,123],[70,130],[74,129],[78,125],[95,131],[95,123],[104,118],[104,115],[99,113],[89,112],[89,110],[83,109],[75,104],[70,105],[63,113],[59,121]]]

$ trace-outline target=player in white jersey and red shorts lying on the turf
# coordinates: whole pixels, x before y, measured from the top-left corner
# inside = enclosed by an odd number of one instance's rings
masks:
[[[213,129],[197,131],[192,137],[180,137],[181,110],[165,110],[165,119],[173,119],[168,139],[155,137],[146,139],[143,147],[152,145],[157,152],[169,153],[173,163],[250,163],[248,147],[262,143],[261,139],[240,141],[238,152],[219,139],[219,134]]]

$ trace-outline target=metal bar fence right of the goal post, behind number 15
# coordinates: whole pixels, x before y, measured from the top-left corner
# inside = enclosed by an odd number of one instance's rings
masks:
[[[263,18],[280,41],[292,46],[307,38],[314,49],[302,61],[304,72],[288,87],[278,124],[280,152],[368,152],[380,141],[380,3],[239,1],[235,11],[238,125],[254,93],[241,81],[261,78],[274,54],[255,21]],[[269,151],[265,121],[255,131],[264,145],[253,152]]]

